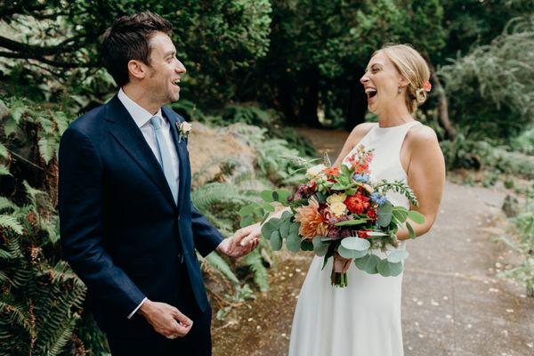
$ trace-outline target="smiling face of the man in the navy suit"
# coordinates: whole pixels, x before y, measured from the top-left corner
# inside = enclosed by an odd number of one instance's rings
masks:
[[[150,66],[146,84],[150,95],[161,105],[180,98],[180,78],[185,67],[176,58],[176,48],[169,36],[157,32],[150,38]]]

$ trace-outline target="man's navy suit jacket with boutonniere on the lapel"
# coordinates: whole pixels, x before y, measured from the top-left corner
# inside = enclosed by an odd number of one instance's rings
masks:
[[[110,335],[150,332],[142,316],[127,316],[145,297],[176,305],[181,295],[208,308],[195,249],[207,255],[223,239],[190,201],[187,140],[179,142],[178,203],[150,150],[117,95],[77,118],[61,137],[62,253],[88,288],[95,320]]]

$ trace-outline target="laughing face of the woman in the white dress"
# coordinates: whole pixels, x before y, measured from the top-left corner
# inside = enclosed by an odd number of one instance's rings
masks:
[[[391,105],[403,103],[399,94],[402,77],[392,61],[382,52],[376,53],[360,78],[368,97],[368,109],[376,115]]]

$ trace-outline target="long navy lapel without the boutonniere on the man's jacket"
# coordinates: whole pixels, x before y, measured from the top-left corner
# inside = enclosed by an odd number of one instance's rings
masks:
[[[106,104],[106,120],[111,123],[109,132],[117,142],[141,166],[143,172],[156,184],[167,200],[173,206],[176,206],[158,159],[154,156],[139,127],[135,125],[134,118],[130,116],[130,113],[117,98],[117,95]]]

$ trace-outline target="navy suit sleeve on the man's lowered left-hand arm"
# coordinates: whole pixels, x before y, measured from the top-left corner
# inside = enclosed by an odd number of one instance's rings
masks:
[[[61,137],[59,159],[63,257],[94,295],[126,318],[145,295],[103,246],[101,159],[93,142],[72,127]]]

